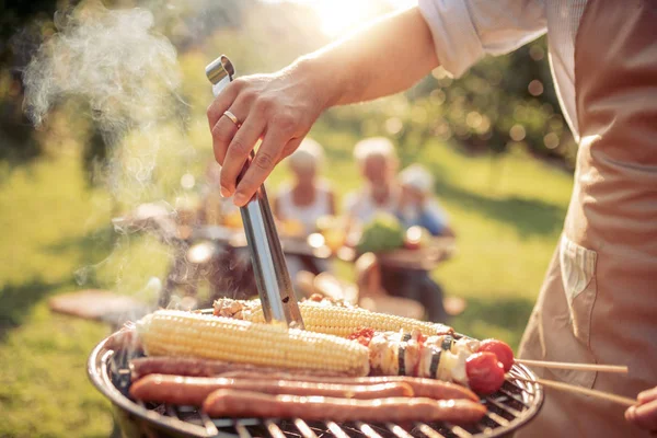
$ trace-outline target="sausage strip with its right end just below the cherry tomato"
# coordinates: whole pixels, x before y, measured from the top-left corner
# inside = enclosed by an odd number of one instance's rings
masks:
[[[300,380],[306,382],[322,382],[322,383],[347,383],[347,384],[381,384],[392,382],[403,382],[413,389],[413,393],[417,397],[428,397],[434,400],[472,400],[479,401],[479,396],[465,387],[457,383],[443,382],[435,379],[406,377],[406,376],[381,376],[381,377],[315,377],[315,376],[299,376],[285,372],[263,374],[252,371],[228,371],[221,374],[226,378],[240,379],[285,379]]]

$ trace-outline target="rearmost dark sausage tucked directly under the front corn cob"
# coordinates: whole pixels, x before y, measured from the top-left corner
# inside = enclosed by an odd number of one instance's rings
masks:
[[[226,362],[222,360],[198,359],[192,357],[171,357],[152,356],[140,357],[130,361],[132,380],[137,380],[148,374],[173,374],[173,376],[195,376],[195,377],[216,377],[228,371],[251,371],[256,374],[288,372],[280,368],[258,367],[249,364]],[[295,370],[300,376],[325,376],[341,377],[338,372]]]

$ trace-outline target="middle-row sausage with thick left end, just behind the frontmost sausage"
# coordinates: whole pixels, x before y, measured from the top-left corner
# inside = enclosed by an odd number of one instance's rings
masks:
[[[413,396],[403,382],[338,384],[287,380],[256,380],[150,374],[130,387],[130,395],[145,402],[200,406],[214,391],[231,389],[266,394],[322,395],[341,399],[383,399]]]

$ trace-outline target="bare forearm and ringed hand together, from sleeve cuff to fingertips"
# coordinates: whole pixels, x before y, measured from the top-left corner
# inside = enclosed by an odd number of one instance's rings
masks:
[[[387,15],[273,74],[238,78],[208,108],[221,194],[243,206],[276,163],[290,154],[322,111],[406,90],[438,67],[417,7]],[[229,117],[238,118],[238,126]],[[263,140],[237,183],[249,154]]]

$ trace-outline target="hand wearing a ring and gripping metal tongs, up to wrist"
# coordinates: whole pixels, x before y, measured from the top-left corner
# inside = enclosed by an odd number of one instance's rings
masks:
[[[215,158],[221,168],[221,195],[234,194],[243,206],[274,166],[293,152],[325,108],[326,88],[292,65],[273,74],[238,78],[208,107]],[[322,94],[324,92],[324,94]],[[223,116],[230,111],[240,127]],[[239,185],[235,186],[251,150],[262,145]]]

